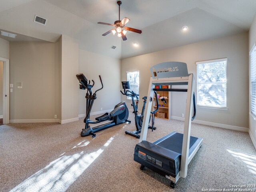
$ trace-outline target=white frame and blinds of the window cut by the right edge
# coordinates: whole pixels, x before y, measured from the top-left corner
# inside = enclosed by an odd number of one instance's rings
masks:
[[[250,50],[250,114],[256,120],[256,84],[252,86],[252,80],[256,80],[256,43]],[[252,91],[254,90],[254,92]],[[255,99],[255,100],[254,100]]]

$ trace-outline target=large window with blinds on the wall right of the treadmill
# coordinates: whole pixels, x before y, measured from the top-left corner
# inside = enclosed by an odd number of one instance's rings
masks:
[[[227,58],[196,62],[197,105],[226,108]]]

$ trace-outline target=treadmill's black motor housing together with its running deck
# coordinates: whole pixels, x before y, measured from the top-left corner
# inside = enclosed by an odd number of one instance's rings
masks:
[[[190,136],[190,148],[197,139]],[[180,172],[182,140],[183,134],[172,132],[154,143],[142,141],[135,147],[134,161],[164,177],[170,175],[175,178]]]

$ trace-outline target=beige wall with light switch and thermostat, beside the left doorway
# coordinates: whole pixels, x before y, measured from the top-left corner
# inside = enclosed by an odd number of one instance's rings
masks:
[[[10,43],[10,120],[54,119],[58,43]],[[22,89],[17,88],[22,82]]]

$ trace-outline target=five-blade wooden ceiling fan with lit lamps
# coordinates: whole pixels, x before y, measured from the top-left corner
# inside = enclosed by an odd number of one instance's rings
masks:
[[[98,22],[98,24],[103,24],[103,25],[110,25],[110,26],[114,26],[115,28],[113,29],[110,29],[109,31],[107,31],[106,33],[102,34],[102,36],[106,36],[107,34],[109,33],[113,33],[113,35],[118,32],[118,37],[122,37],[122,39],[125,41],[127,40],[126,38],[126,33],[127,33],[127,30],[128,31],[132,31],[132,32],[136,32],[136,33],[139,33],[141,34],[141,30],[138,30],[138,29],[134,29],[134,28],[130,28],[130,27],[125,27],[124,25],[126,23],[128,23],[130,21],[130,19],[128,18],[123,18],[123,20],[121,21],[120,20],[120,5],[122,4],[121,1],[118,1],[117,2],[118,6],[119,6],[119,20],[115,21],[114,24],[110,24],[110,23],[103,23],[103,22]]]

